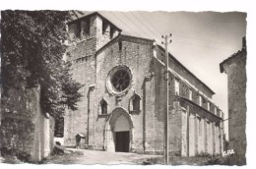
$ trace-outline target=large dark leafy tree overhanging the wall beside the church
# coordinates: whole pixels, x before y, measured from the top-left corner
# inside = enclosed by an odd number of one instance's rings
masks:
[[[3,96],[10,87],[40,87],[42,112],[62,116],[77,109],[81,84],[69,74],[62,57],[68,38],[68,11],[2,11]]]

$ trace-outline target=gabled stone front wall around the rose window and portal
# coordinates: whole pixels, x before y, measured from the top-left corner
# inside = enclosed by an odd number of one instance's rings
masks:
[[[121,46],[120,46],[121,45]],[[98,106],[102,99],[107,102],[107,114],[117,107],[122,107],[131,114],[134,124],[134,151],[144,151],[152,148],[148,123],[154,114],[154,86],[151,81],[146,82],[145,76],[149,71],[152,58],[152,41],[120,36],[109,44],[96,56],[96,147],[102,147],[103,129],[107,115],[100,115]],[[117,66],[128,67],[132,75],[130,89],[122,96],[111,94],[107,88],[108,75]],[[136,93],[142,99],[140,112],[129,112],[130,99]],[[117,100],[118,99],[118,100]],[[145,116],[144,116],[145,115]],[[145,118],[145,119],[144,119]],[[148,126],[150,125],[150,126]],[[152,128],[151,128],[152,129]]]

